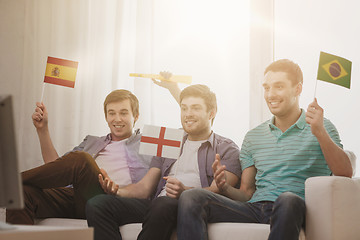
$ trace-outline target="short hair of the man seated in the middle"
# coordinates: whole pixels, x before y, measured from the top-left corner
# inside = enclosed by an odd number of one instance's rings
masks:
[[[210,88],[203,84],[191,85],[180,93],[180,103],[186,97],[200,97],[204,99],[206,110],[208,112],[215,111],[217,112],[217,102],[216,95],[213,93]],[[215,117],[212,119],[211,124],[214,122]]]

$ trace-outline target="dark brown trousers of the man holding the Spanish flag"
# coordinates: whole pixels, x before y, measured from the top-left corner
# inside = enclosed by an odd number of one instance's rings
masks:
[[[34,224],[34,218],[85,218],[86,201],[104,193],[95,160],[72,152],[53,162],[22,172],[25,208],[7,210],[6,221]],[[64,187],[72,184],[73,187]]]

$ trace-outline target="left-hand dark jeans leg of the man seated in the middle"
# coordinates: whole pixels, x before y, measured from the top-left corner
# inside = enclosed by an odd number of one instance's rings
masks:
[[[143,222],[150,204],[148,199],[106,194],[90,199],[86,204],[86,219],[89,227],[94,227],[94,239],[122,239],[119,226]]]

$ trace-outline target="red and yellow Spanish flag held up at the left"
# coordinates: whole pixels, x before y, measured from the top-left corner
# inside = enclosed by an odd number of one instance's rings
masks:
[[[44,82],[74,88],[78,62],[48,57]]]

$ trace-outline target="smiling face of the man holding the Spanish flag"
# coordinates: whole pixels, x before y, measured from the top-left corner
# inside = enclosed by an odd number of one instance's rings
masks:
[[[113,141],[130,137],[137,119],[138,116],[133,116],[129,99],[110,102],[106,105],[106,122]]]

